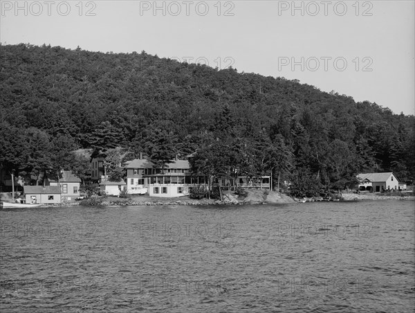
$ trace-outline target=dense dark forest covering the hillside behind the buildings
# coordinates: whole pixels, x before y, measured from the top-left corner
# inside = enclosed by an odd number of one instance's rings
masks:
[[[114,147],[160,163],[197,152],[195,171],[273,172],[297,189],[351,188],[358,172],[415,179],[414,116],[297,80],[145,51],[1,45],[0,60],[0,163],[28,180],[60,168],[87,177],[71,151]]]

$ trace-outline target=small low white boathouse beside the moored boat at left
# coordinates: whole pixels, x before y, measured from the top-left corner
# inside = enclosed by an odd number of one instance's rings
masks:
[[[26,204],[60,204],[61,188],[59,186],[24,186]]]

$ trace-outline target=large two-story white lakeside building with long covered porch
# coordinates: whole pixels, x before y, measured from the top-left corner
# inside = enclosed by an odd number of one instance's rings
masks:
[[[208,177],[192,175],[187,160],[172,160],[166,164],[164,171],[147,159],[134,159],[124,164],[127,169],[127,192],[130,195],[149,195],[150,197],[183,197],[189,195],[192,188],[207,185]],[[270,190],[270,176],[258,178],[238,177],[234,179],[217,179],[214,186],[242,188],[262,188]]]

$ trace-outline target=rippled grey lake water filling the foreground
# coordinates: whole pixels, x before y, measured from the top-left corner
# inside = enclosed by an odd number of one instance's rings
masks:
[[[3,209],[1,312],[413,312],[412,201]]]

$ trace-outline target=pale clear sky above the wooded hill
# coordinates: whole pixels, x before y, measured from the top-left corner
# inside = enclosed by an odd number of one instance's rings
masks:
[[[2,44],[145,50],[220,69],[232,64],[415,114],[413,0],[0,3]]]

